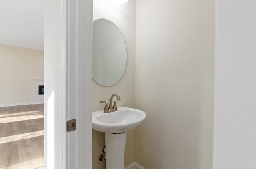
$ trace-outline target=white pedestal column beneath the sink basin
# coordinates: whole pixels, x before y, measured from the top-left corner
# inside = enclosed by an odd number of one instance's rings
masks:
[[[124,169],[124,150],[126,132],[122,134],[105,133],[106,169]]]

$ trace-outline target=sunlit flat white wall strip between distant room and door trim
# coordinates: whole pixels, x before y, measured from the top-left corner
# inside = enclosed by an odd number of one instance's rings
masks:
[[[44,167],[62,168],[61,112],[61,7],[62,0],[45,1],[44,25]]]

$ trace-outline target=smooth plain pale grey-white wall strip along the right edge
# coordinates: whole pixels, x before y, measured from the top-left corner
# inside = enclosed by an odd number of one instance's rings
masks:
[[[214,169],[255,169],[256,1],[216,7]]]

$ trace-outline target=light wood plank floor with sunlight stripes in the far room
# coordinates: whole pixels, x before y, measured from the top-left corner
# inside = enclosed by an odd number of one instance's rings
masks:
[[[44,105],[0,107],[0,169],[44,168]]]

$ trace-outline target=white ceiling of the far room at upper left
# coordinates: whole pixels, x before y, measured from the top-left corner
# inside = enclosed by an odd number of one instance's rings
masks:
[[[44,0],[0,0],[0,44],[44,50]]]

